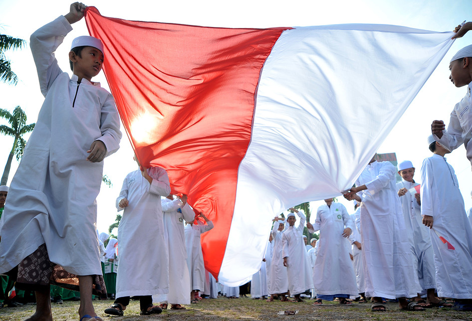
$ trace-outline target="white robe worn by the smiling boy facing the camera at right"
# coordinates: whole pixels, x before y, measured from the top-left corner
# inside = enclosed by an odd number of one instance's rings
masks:
[[[407,182],[402,179],[397,183],[397,191],[401,188],[410,190],[419,184]],[[423,224],[421,206],[416,201],[415,195],[407,192],[400,196],[403,217],[405,219],[406,235],[412,242],[413,252],[418,261],[418,279],[423,293],[428,289],[436,289],[436,270],[434,267],[434,252],[431,245],[429,228]]]

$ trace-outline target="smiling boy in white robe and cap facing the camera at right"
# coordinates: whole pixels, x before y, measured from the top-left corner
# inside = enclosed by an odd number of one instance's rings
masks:
[[[428,228],[422,223],[420,193],[411,193],[410,190],[419,184],[415,182],[415,168],[412,162],[403,161],[397,166],[398,174],[402,181],[397,183],[398,196],[402,202],[403,216],[405,218],[406,235],[411,242],[413,253],[418,262],[418,277],[423,293],[426,292],[426,302],[419,294],[415,298],[416,303],[425,308],[452,307],[452,304],[442,302],[435,296],[436,271],[434,267],[434,252]]]

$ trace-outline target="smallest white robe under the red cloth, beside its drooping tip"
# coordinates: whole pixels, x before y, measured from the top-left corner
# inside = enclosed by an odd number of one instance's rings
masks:
[[[192,290],[205,289],[205,264],[203,262],[201,235],[213,229],[213,222],[208,225],[187,224],[185,226],[185,245],[187,249],[187,267],[190,273]]]

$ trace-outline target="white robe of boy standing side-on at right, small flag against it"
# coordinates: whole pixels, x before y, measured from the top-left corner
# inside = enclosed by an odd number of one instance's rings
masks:
[[[433,229],[455,248],[430,229],[438,296],[472,299],[472,228],[454,169],[440,155],[421,167],[421,214],[432,216]]]

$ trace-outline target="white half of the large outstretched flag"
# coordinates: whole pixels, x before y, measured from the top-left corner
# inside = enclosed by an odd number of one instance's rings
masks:
[[[221,283],[259,269],[274,215],[352,186],[452,34],[367,24],[281,34],[260,76]]]

